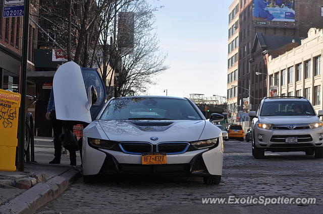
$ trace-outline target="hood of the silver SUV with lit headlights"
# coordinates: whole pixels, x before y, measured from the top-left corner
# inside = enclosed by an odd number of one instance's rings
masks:
[[[317,116],[260,116],[258,122],[270,124],[301,124],[318,122]]]

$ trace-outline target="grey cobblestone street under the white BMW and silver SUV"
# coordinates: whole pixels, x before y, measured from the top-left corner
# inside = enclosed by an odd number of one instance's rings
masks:
[[[89,185],[79,178],[38,213],[322,213],[322,162],[300,152],[268,152],[255,160],[250,143],[226,141],[220,185],[204,185],[201,178],[151,177]],[[204,197],[229,196],[315,197],[316,204],[202,204]]]

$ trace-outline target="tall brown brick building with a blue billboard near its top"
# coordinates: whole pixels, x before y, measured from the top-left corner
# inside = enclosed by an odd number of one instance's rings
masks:
[[[263,0],[235,0],[233,2],[233,5],[238,4],[235,16],[238,16],[236,20],[239,26],[239,49],[238,59],[235,59],[234,63],[238,66],[238,82],[228,84],[228,92],[230,91],[231,95],[231,90],[234,91],[232,88],[237,85],[237,97],[234,98],[236,103],[241,104],[243,98],[250,97],[252,110],[258,107],[261,97],[267,94],[266,75],[255,75],[256,72],[267,74],[266,57],[255,61],[255,58],[262,52],[252,51],[255,47],[256,33],[277,38],[293,39],[295,37],[297,40],[297,37],[306,37],[311,27],[323,27],[323,6],[319,0],[307,2],[271,0],[267,2],[265,8],[259,8],[260,2]],[[233,5],[230,6],[229,13],[232,12]],[[230,16],[229,23],[230,29],[233,23],[233,21],[230,22]],[[293,45],[290,47],[292,48]],[[231,57],[232,54],[229,54],[228,59],[231,60]],[[228,74],[232,72],[232,69],[235,68],[230,67]],[[242,107],[238,106],[238,108],[242,110]]]

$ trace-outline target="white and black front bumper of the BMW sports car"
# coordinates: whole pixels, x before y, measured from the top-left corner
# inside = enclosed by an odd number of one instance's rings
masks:
[[[82,169],[83,175],[176,175],[207,177],[222,175],[223,140],[218,147],[208,150],[190,151],[184,154],[167,155],[165,165],[142,165],[141,155],[92,148],[83,138]]]

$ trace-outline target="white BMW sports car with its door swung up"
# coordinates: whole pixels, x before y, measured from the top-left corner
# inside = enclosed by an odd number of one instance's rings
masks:
[[[221,130],[192,101],[133,96],[112,98],[102,106],[104,88],[99,75],[88,79],[74,62],[61,65],[53,81],[58,118],[88,124],[81,147],[85,183],[98,175],[122,174],[184,175],[203,177],[205,184],[221,182]],[[211,114],[211,119],[220,122],[224,117]]]

